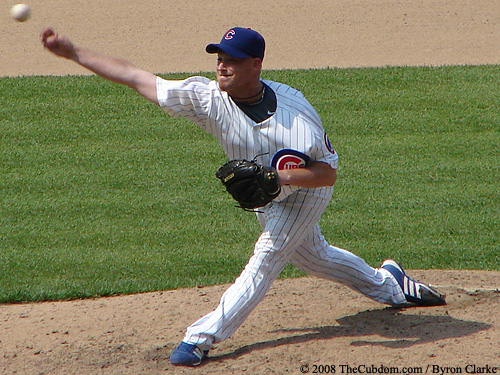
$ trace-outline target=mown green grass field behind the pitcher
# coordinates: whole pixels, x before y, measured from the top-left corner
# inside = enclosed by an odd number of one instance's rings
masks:
[[[340,155],[331,244],[374,266],[500,270],[500,66],[263,76],[304,92]],[[94,76],[1,78],[0,99],[0,302],[239,275],[260,228],[214,177],[216,140]]]

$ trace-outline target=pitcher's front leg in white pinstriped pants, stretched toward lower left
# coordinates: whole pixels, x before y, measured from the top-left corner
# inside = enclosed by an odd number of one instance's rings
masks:
[[[264,230],[254,249],[254,255],[235,283],[222,296],[217,309],[193,323],[183,342],[200,351],[230,337],[265,296],[298,245],[320,218],[323,199],[305,203],[305,193],[297,193],[286,202],[272,204],[259,215]],[[322,205],[318,206],[318,202]],[[305,209],[316,205],[317,210]],[[175,351],[174,351],[175,353]]]

